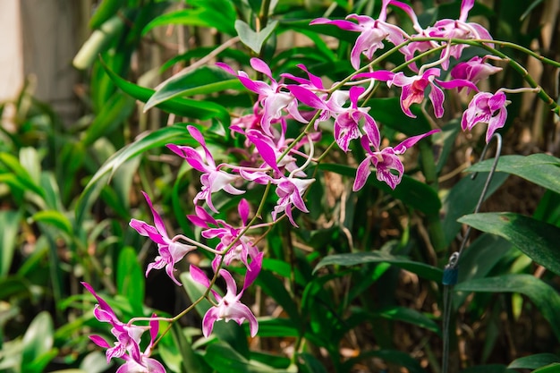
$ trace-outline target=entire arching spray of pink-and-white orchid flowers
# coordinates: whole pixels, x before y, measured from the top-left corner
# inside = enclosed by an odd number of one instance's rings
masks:
[[[302,64],[298,67],[304,77],[284,73],[276,79],[264,61],[252,58],[250,66],[255,72],[259,72],[263,77],[262,81],[251,79],[248,72],[236,72],[228,64],[217,64],[225,72],[237,77],[246,89],[258,97],[252,112],[235,118],[230,127],[233,135],[243,140],[244,148],[236,149],[236,154],[242,156],[242,162],[217,163],[202,132],[193,125],[189,125],[187,131],[192,139],[198,142],[199,147],[169,144],[167,148],[201,174],[200,190],[193,199],[194,214],[188,218],[192,225],[201,228],[202,238],[219,242],[216,247],[210,248],[205,243],[182,234],[171,237],[164,219],[157,213],[146,193],[143,195],[151,210],[154,224],[149,225],[137,219],[130,222],[131,227],[140,235],[157,244],[157,258],[148,265],[146,276],[152,270],[165,268],[166,274],[174,283],[181,285],[175,277],[175,265],[189,252],[208,250],[215,255],[210,266],[214,273],[211,278],[208,278],[201,268],[194,265],[190,267],[192,280],[208,289],[204,298],[212,304],[202,321],[204,336],[208,337],[212,333],[218,320],[233,320],[239,324],[247,321],[250,335],[257,335],[257,318],[250,308],[242,303],[243,292],[255,281],[263,262],[264,254],[259,249],[259,239],[253,232],[260,232],[283,218],[297,227],[294,212],[309,212],[305,196],[315,181],[310,176],[309,168],[317,164],[322,157],[317,154],[317,144],[323,131],[333,132],[335,142],[332,145],[344,153],[351,152],[352,147],[363,148],[365,157],[358,160],[353,191],[360,191],[364,187],[372,171],[375,171],[378,181],[386,182],[390,188],[395,189],[404,174],[403,162],[399,156],[420,140],[439,131],[434,129],[403,140],[395,147],[383,147],[375,113],[371,113],[370,108],[364,104],[367,102],[366,97],[369,97],[373,87],[379,82],[385,83],[388,89],[400,89],[401,108],[403,113],[410,117],[415,117],[411,110],[412,105],[422,103],[426,96],[431,101],[434,115],[441,118],[445,111],[445,90],[464,89],[466,94],[474,91],[474,97],[462,114],[462,130],[471,130],[479,123],[487,123],[488,142],[492,134],[504,126],[507,116],[505,106],[508,104],[505,93],[508,90],[498,89],[491,93],[480,91],[477,87],[479,81],[501,70],[500,67],[489,64],[496,58],[475,56],[466,62],[455,64],[453,61],[459,60],[465,47],[469,47],[462,44],[461,40],[483,40],[488,46],[492,45],[492,38],[487,30],[477,23],[467,21],[473,4],[474,0],[463,0],[458,20],[437,21],[426,29],[420,27],[410,5],[395,0],[383,0],[381,12],[375,20],[369,16],[352,14],[346,20],[320,18],[312,21],[311,24],[334,25],[359,33],[350,58],[355,72],[344,81],[335,82],[330,87],[326,87],[321,78]],[[387,12],[391,9],[389,6],[404,11],[410,17],[417,33],[409,35],[398,26],[387,22]],[[378,50],[385,47],[386,42],[395,46],[391,53],[398,51],[403,55],[405,66],[410,70],[409,74],[403,71],[375,70],[376,64],[372,59]],[[428,52],[433,54],[439,51],[441,54],[437,61],[422,64],[420,67],[417,65],[422,60],[421,57]],[[367,63],[362,66],[364,57]],[[452,65],[453,68],[449,70]],[[289,125],[300,126],[297,137],[288,137]],[[332,130],[329,128],[331,125]],[[331,148],[333,147],[325,151]],[[217,192],[241,196],[256,185],[266,186],[263,201],[268,198],[269,191],[276,192],[276,206],[270,211],[270,217],[263,219],[266,220],[264,223],[256,224],[257,220],[262,218],[262,206],[259,206],[250,218],[250,204],[247,199],[242,198],[237,206],[238,217],[233,219],[236,224],[216,218],[220,213],[220,207],[216,206],[213,200]],[[235,262],[246,268],[240,292],[227,269]],[[225,295],[216,291],[217,277],[225,280]],[[98,301],[94,311],[95,317],[113,326],[112,333],[117,340],[114,347],[110,347],[101,337],[91,337],[94,343],[107,348],[107,360],[114,357],[123,358],[126,362],[119,372],[164,371],[160,363],[149,357],[157,335],[157,320],[160,318],[152,317],[149,326],[134,326],[131,322],[123,324],[89,284],[84,286]],[[202,298],[199,301],[201,300]],[[150,331],[152,343],[146,352],[140,352],[140,335],[147,329]]]

